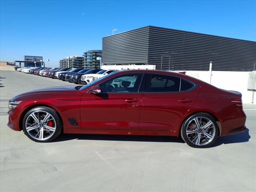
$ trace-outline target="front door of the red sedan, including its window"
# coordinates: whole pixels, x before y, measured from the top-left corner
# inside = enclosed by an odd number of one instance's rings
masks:
[[[82,129],[139,130],[142,77],[143,73],[119,75],[100,83],[100,94],[84,93]]]

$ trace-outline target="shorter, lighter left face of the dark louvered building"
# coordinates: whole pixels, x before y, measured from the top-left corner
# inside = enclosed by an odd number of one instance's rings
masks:
[[[102,64],[147,64],[149,27],[102,38]]]

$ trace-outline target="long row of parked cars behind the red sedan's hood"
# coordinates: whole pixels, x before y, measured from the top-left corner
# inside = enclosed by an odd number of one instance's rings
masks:
[[[48,68],[48,67],[24,67],[17,71],[44,76],[63,81],[69,81],[76,84],[88,84],[104,75],[110,74],[116,70],[102,69],[84,69],[84,68]]]

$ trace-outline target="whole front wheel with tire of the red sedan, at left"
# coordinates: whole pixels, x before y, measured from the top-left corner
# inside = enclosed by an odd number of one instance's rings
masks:
[[[29,110],[23,118],[23,131],[33,141],[50,142],[62,130],[62,122],[56,110],[40,106]]]

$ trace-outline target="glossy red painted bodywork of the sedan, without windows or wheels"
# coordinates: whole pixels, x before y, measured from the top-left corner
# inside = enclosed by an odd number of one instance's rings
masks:
[[[19,122],[23,112],[40,105],[52,107],[60,114],[64,133],[178,136],[183,121],[196,112],[206,112],[218,119],[222,136],[234,133],[230,131],[245,125],[246,116],[242,108],[231,102],[241,99],[241,94],[220,90],[181,73],[166,71],[124,70],[107,78],[127,72],[167,74],[184,78],[197,86],[193,90],[169,93],[87,92],[106,80],[102,79],[85,90],[76,90],[74,86],[36,90],[12,98],[22,102],[8,112],[8,126],[21,130]],[[68,118],[75,118],[78,126],[72,126]]]

